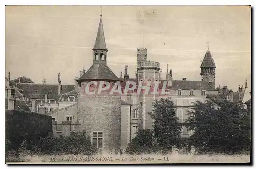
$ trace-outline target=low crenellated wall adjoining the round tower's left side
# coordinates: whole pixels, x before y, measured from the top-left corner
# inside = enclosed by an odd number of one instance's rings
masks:
[[[70,136],[72,132],[79,132],[81,129],[81,123],[70,123],[67,121],[63,121],[62,123],[58,124],[57,121],[52,122],[52,132],[53,135],[59,137],[60,135],[63,136]]]

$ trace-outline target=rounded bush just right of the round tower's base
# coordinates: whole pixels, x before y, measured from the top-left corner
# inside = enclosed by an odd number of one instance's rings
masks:
[[[138,130],[137,135],[132,142],[127,144],[126,152],[128,154],[155,153],[159,149],[154,143],[152,133],[148,129]]]

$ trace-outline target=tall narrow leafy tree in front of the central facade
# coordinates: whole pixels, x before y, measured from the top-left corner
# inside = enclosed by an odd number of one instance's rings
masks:
[[[160,99],[153,102],[152,133],[157,144],[164,151],[170,151],[173,146],[178,146],[181,140],[181,125],[176,116],[176,108],[171,98]]]

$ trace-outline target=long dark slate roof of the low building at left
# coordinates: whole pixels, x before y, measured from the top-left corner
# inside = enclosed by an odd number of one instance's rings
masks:
[[[59,99],[60,97],[60,95],[58,95],[58,84],[17,83],[17,88],[23,90],[21,93],[24,97],[32,99],[44,99],[46,93],[49,93],[48,99]],[[61,85],[61,94],[74,89],[74,85]]]

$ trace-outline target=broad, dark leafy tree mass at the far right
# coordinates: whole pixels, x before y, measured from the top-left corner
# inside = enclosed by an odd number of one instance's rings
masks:
[[[192,144],[201,153],[233,154],[250,148],[250,118],[240,102],[224,101],[216,110],[211,102],[195,102],[188,112]]]

